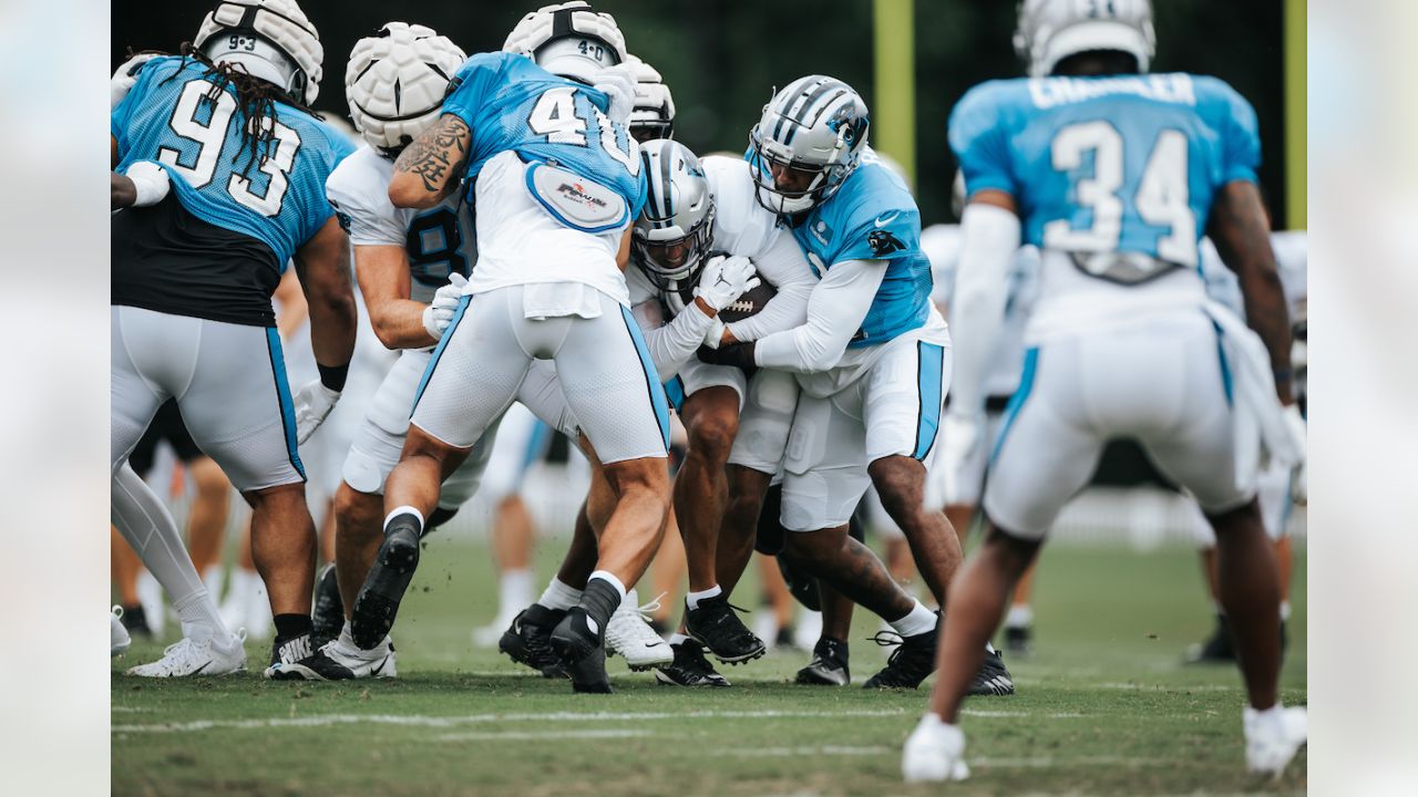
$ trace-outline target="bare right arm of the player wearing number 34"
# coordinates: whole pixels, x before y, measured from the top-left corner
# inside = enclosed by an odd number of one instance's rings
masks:
[[[1245,296],[1246,325],[1271,352],[1275,390],[1282,404],[1290,404],[1290,311],[1285,303],[1280,275],[1271,248],[1271,224],[1255,183],[1236,180],[1217,193],[1207,233],[1217,244],[1221,262],[1236,272]]]

